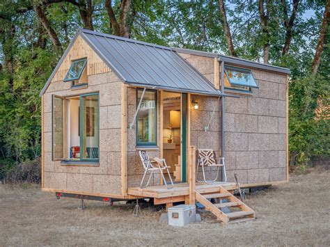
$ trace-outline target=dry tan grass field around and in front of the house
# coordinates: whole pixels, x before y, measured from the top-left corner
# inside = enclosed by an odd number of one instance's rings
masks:
[[[330,246],[329,166],[248,194],[256,221],[226,227],[202,214],[184,228],[158,223],[151,207],[56,200],[38,186],[0,184],[0,246]]]

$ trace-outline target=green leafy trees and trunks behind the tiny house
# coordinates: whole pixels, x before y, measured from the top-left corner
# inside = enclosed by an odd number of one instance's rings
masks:
[[[79,28],[289,67],[290,164],[329,155],[326,6],[329,0],[3,0],[0,178],[40,156],[38,93]]]

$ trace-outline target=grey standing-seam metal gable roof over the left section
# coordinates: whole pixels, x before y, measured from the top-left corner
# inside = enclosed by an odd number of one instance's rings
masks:
[[[104,63],[107,63],[124,83],[129,83],[132,86],[175,90],[178,92],[214,96],[223,95],[220,90],[214,88],[210,81],[184,61],[170,47],[85,29],[79,30],[78,34],[84,38],[88,45],[93,48]],[[75,38],[77,38],[77,35]],[[68,53],[69,48],[63,54],[58,66]],[[55,70],[57,70],[58,66],[56,66]],[[54,76],[54,72],[40,95],[45,93]]]

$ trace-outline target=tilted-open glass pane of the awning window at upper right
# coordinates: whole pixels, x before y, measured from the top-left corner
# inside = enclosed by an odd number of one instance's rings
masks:
[[[245,86],[251,88],[258,88],[251,71],[243,70],[233,67],[225,67],[227,79],[230,84],[236,86]]]

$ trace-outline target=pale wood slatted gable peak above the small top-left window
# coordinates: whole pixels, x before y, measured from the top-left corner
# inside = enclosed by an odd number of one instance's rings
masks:
[[[102,74],[110,72],[110,68],[105,64],[102,59],[97,56],[95,51],[85,42],[79,35],[77,40],[72,45],[70,51],[65,57],[63,63],[58,68],[58,71],[54,75],[53,81],[63,81],[65,74],[67,74],[69,67],[73,60],[79,58],[87,58],[87,74]]]

